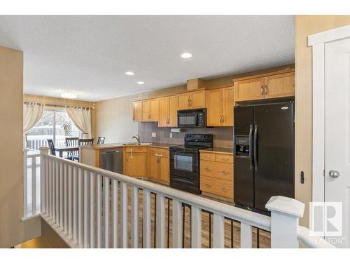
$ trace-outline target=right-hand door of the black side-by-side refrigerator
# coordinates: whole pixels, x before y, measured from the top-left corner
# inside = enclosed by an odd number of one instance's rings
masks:
[[[254,206],[266,210],[271,196],[294,198],[294,103],[254,108]]]

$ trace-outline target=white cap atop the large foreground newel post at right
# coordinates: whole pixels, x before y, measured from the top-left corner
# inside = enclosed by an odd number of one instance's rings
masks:
[[[271,212],[302,217],[304,215],[304,203],[285,196],[272,196],[265,205]]]

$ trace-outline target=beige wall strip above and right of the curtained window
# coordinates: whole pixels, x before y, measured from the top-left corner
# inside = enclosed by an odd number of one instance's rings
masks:
[[[64,99],[61,97],[46,97],[46,96],[38,96],[38,95],[29,95],[24,94],[23,95],[23,101],[25,102],[38,102],[38,103],[44,103],[44,104],[50,104],[50,105],[56,105],[56,106],[76,106],[76,107],[87,107],[92,108],[94,107],[94,102],[86,102],[83,100],[69,100]],[[94,137],[94,127],[95,125],[95,111],[91,111],[91,126],[92,126],[92,137]]]

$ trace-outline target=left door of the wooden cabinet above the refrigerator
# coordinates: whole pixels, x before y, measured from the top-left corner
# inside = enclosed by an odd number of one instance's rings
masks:
[[[261,100],[264,98],[264,78],[235,81],[235,99],[237,102],[245,100]]]

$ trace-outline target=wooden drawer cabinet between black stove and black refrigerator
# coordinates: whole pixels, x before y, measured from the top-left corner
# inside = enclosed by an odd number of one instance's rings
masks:
[[[233,201],[233,155],[200,152],[200,190]]]

